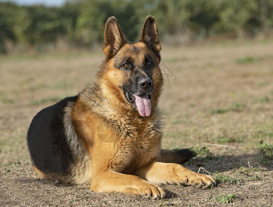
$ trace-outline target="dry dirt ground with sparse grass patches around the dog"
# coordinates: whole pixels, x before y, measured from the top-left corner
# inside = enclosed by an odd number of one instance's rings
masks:
[[[273,161],[259,150],[273,144],[272,40],[162,47],[162,148],[192,148],[185,166],[216,186],[162,186],[167,198],[154,200],[39,179],[26,146],[32,117],[94,81],[103,59],[0,57],[0,206],[273,206]]]

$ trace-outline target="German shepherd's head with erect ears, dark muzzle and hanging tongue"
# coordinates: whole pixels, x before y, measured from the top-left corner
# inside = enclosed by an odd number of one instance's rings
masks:
[[[127,43],[115,17],[110,17],[104,32],[106,60],[99,73],[104,95],[127,110],[151,115],[162,87],[158,26],[149,16],[144,22],[140,41]]]

